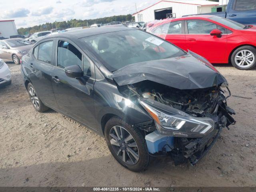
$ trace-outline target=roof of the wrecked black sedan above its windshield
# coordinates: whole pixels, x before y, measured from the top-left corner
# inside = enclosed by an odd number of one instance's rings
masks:
[[[78,29],[78,30],[73,30],[73,31],[67,31],[64,33],[54,34],[54,35],[50,36],[49,38],[53,38],[53,37],[84,38],[84,37],[88,37],[88,36],[94,36],[94,35],[123,31],[123,30],[136,30],[136,29],[128,28],[125,26],[86,28],[86,29]],[[46,38],[44,38],[44,39],[46,39]]]

